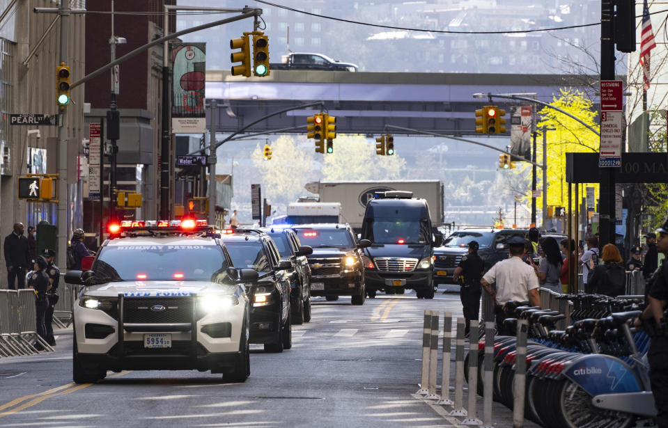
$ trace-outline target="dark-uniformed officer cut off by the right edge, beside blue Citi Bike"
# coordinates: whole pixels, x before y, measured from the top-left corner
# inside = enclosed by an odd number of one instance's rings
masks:
[[[668,218],[656,230],[656,249],[668,255]],[[659,428],[668,428],[668,329],[665,326],[665,310],[668,305],[668,257],[650,280],[649,304],[635,326],[644,326],[651,335],[647,359],[651,370],[651,386],[654,404],[658,411],[656,422]],[[649,283],[648,283],[649,285]],[[654,324],[655,323],[655,324]]]

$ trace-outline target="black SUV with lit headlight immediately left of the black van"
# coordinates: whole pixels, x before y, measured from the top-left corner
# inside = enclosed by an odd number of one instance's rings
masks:
[[[357,241],[347,224],[304,224],[295,225],[293,229],[302,244],[313,248],[313,254],[308,256],[311,296],[325,296],[328,301],[334,301],[339,296],[352,295],[353,305],[364,305],[362,248],[370,246],[371,242]]]

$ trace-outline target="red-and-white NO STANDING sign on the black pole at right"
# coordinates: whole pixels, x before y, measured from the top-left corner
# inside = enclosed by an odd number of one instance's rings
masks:
[[[600,82],[599,168],[621,166],[622,88],[621,80],[602,80]]]

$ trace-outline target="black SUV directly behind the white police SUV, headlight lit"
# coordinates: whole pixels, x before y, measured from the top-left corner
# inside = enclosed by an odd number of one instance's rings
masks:
[[[282,352],[292,347],[292,314],[288,260],[281,260],[272,238],[258,229],[236,229],[222,235],[237,269],[256,269],[256,282],[245,283],[251,303],[250,343],[262,343],[265,351]]]

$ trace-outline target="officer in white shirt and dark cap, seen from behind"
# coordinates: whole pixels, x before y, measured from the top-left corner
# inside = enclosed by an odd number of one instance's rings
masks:
[[[541,306],[538,294],[538,277],[534,268],[522,261],[526,253],[526,240],[520,236],[508,239],[510,257],[497,262],[480,280],[481,285],[495,301],[497,330],[504,331],[503,305],[508,301],[530,301],[533,306]],[[491,284],[496,283],[496,289]]]

